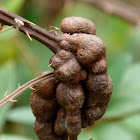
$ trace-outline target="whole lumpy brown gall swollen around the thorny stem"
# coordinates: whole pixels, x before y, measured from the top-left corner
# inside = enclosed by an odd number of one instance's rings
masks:
[[[78,136],[103,116],[113,91],[106,46],[95,35],[94,23],[68,17],[61,30],[60,48],[49,61],[54,79],[35,86],[30,100],[40,140]]]

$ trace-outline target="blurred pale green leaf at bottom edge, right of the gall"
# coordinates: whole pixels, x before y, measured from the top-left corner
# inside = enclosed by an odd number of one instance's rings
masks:
[[[95,127],[94,133],[97,140],[138,140],[136,135],[115,123],[99,125]]]

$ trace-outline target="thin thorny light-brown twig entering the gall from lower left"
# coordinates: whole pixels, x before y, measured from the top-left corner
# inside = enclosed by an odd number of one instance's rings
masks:
[[[26,84],[24,84],[22,86],[18,86],[18,88],[11,94],[7,95],[7,92],[6,92],[4,95],[4,98],[0,101],[0,107],[2,107],[3,105],[5,105],[8,102],[15,102],[16,100],[14,100],[14,98],[19,96],[25,90],[27,90],[29,88],[32,89],[32,86],[34,86],[35,84],[38,84],[39,82],[43,82],[45,80],[50,80],[50,78],[53,78],[53,73],[47,71],[47,72],[44,72],[42,75],[34,78],[33,80],[27,82]]]

